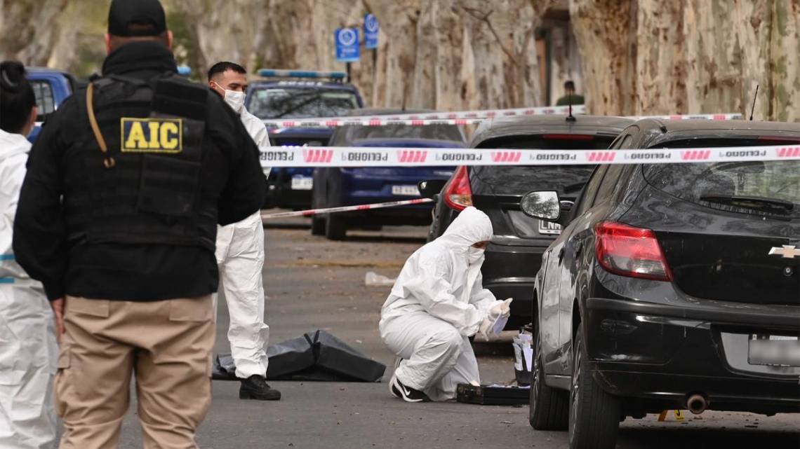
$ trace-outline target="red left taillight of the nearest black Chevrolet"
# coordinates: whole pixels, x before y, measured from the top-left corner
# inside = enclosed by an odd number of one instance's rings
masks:
[[[598,262],[621,276],[672,280],[664,252],[650,229],[602,221],[594,226]]]

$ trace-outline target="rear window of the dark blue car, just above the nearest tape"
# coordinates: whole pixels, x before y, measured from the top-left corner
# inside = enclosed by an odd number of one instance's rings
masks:
[[[362,139],[434,139],[462,143],[464,137],[456,125],[342,126],[336,130],[332,145],[347,146]]]

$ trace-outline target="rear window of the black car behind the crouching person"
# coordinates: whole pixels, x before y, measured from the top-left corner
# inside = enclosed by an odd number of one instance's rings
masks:
[[[502,137],[481,142],[478,148],[498,149],[606,149],[614,136],[547,134]],[[592,174],[594,165],[480,166],[470,171],[474,193],[523,195],[532,190],[556,190],[575,196]]]

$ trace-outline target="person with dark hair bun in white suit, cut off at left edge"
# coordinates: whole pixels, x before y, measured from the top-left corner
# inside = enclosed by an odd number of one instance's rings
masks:
[[[53,311],[11,248],[36,112],[22,64],[0,63],[0,447],[14,449],[49,448],[55,439]]]

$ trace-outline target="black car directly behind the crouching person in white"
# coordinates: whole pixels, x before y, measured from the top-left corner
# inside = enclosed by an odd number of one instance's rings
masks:
[[[504,117],[478,127],[470,146],[489,149],[606,149],[632,120],[622,117]],[[483,285],[498,298],[514,298],[506,325],[530,323],[534,280],[542,252],[561,232],[558,224],[531,221],[519,209],[531,190],[555,189],[574,199],[594,165],[459,167],[450,181],[426,183],[423,196],[434,197],[434,222],[428,241],[441,236],[458,213],[474,205],[494,227],[486,248]],[[441,191],[441,193],[440,193]]]

